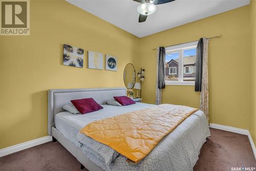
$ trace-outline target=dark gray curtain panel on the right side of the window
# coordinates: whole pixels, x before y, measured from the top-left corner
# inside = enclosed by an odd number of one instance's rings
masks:
[[[195,91],[201,92],[203,70],[203,38],[197,44]]]

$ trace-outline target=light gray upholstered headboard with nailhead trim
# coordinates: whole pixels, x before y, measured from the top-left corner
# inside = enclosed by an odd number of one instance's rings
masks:
[[[93,98],[99,104],[105,104],[113,96],[125,96],[126,88],[103,89],[56,89],[48,91],[48,134],[52,135],[52,126],[55,126],[55,114],[63,112],[62,106],[70,100]]]

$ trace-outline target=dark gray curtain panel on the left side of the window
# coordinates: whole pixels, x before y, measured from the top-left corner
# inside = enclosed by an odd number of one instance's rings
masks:
[[[159,48],[158,88],[165,88],[165,48]]]

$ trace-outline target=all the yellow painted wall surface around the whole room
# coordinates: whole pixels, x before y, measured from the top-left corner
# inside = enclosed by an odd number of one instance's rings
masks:
[[[210,122],[249,129],[255,142],[252,4],[139,39],[65,1],[31,1],[31,35],[0,36],[0,148],[47,135],[48,89],[123,87],[128,62],[145,69],[143,101],[155,103],[152,48],[219,34],[209,41]],[[63,44],[115,55],[118,71],[63,66]],[[193,86],[163,90],[164,103],[198,108],[199,100]]]

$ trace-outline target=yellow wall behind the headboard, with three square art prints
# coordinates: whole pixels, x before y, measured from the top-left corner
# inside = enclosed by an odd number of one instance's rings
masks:
[[[47,136],[48,89],[124,87],[139,54],[138,37],[65,1],[30,4],[30,36],[0,37],[0,148]],[[114,55],[118,71],[63,66],[63,44]]]

